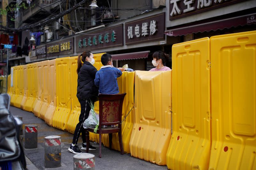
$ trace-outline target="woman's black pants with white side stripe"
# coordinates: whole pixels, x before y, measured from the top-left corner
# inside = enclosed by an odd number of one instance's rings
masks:
[[[79,102],[81,104],[81,113],[79,116],[79,122],[76,125],[72,144],[77,144],[78,138],[81,133],[82,133],[83,143],[86,143],[86,137],[85,137],[83,123],[89,116],[89,113],[91,110],[90,103],[93,103],[93,105],[94,105],[95,101],[96,100],[94,97],[92,97],[91,99],[88,99],[88,100],[79,100]]]

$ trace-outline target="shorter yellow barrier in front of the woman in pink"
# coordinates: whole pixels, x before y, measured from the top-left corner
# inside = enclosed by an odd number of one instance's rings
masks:
[[[166,165],[171,139],[172,71],[135,71],[131,156]]]

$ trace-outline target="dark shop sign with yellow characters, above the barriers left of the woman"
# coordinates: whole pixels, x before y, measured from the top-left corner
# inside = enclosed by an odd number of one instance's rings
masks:
[[[74,37],[46,44],[47,57],[74,53]]]

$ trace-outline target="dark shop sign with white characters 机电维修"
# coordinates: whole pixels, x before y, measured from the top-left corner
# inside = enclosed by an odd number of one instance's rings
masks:
[[[125,44],[163,40],[164,17],[161,13],[125,23]]]

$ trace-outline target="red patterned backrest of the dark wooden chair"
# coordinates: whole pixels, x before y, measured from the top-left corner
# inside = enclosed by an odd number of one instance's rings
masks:
[[[101,125],[115,125],[122,121],[124,96],[122,94],[99,94]]]

